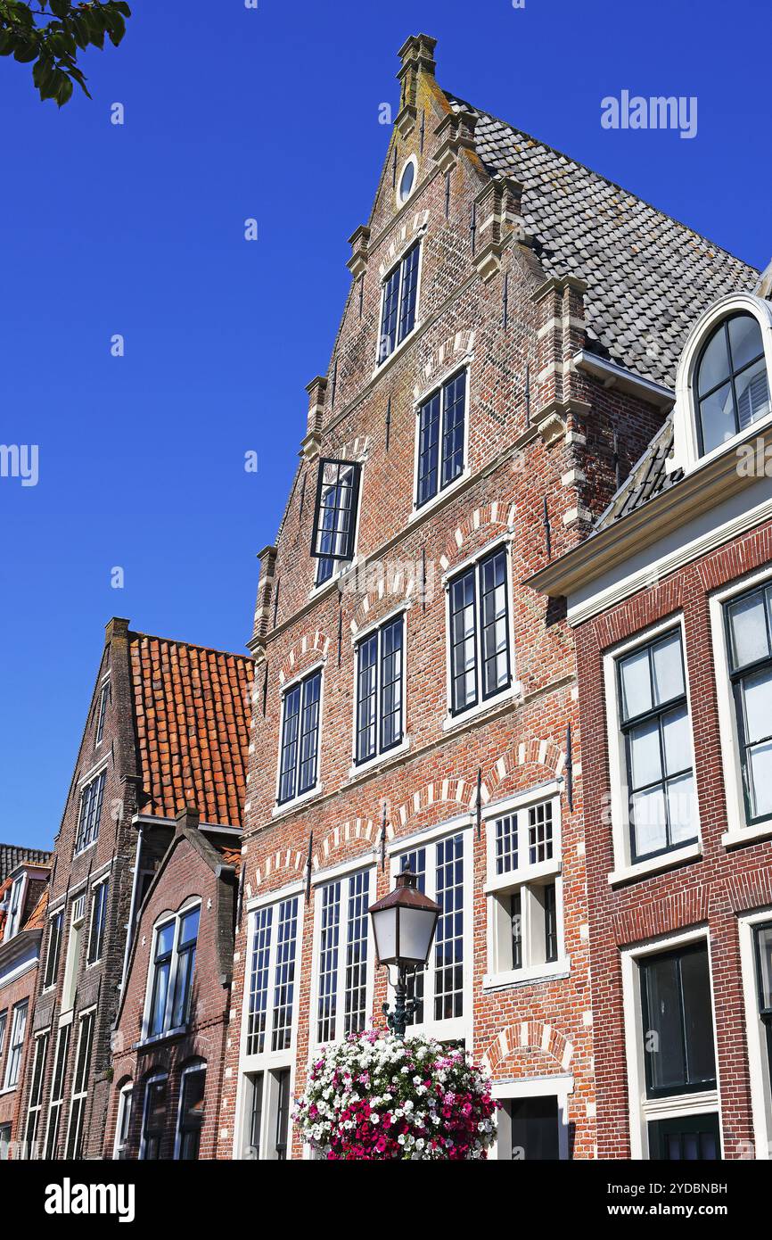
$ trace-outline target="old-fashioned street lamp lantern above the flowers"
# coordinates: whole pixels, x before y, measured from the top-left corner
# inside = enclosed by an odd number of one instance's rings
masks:
[[[394,1011],[383,1004],[383,1014],[392,1033],[404,1038],[408,1017],[419,1001],[408,994],[408,970],[425,968],[431,941],[440,915],[440,905],[418,889],[418,878],[410,869],[397,875],[397,887],[371,905],[375,955],[379,965],[397,966]]]

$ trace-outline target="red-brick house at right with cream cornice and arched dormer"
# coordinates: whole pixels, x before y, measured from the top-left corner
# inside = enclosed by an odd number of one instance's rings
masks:
[[[695,312],[665,425],[534,580],[577,647],[601,1158],[772,1152],[771,289]]]

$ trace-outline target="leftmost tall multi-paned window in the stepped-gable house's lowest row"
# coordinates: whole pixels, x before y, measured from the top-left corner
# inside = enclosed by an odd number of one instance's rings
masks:
[[[289,1050],[295,1014],[299,900],[257,909],[252,923],[247,1054]]]

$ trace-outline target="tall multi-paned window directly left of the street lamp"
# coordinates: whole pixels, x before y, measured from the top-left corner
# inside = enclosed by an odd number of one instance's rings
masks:
[[[318,901],[316,1039],[335,1042],[367,1024],[371,872],[326,883]]]

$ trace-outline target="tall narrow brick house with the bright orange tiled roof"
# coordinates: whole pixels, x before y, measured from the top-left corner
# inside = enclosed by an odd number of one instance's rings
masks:
[[[131,928],[196,804],[202,832],[238,841],[252,660],[133,632],[113,619],[56,838],[25,1078],[31,1157],[103,1156],[110,1038]]]

